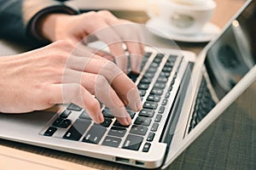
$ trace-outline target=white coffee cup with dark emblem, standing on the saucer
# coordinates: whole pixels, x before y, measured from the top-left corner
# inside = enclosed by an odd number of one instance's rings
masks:
[[[196,34],[212,18],[213,0],[150,0],[147,13],[178,34]]]

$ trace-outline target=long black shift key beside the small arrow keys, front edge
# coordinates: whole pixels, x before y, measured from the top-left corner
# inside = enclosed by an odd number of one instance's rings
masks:
[[[73,126],[67,130],[67,133],[64,134],[63,139],[79,140],[89,126],[89,120],[77,119]]]

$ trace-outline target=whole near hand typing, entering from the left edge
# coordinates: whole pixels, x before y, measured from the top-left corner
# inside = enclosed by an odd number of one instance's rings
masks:
[[[100,123],[99,99],[120,123],[128,125],[131,117],[125,105],[133,111],[142,109],[137,86],[118,66],[84,49],[74,49],[67,41],[1,57],[0,64],[1,112],[29,112],[74,103]]]

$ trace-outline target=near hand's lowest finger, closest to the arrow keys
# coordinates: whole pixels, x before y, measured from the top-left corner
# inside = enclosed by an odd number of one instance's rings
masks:
[[[73,103],[84,108],[94,122],[104,121],[99,102],[79,83],[53,84],[49,94],[53,104]]]

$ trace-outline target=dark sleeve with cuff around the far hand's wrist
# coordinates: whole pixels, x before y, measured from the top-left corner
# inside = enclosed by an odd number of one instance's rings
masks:
[[[0,37],[43,41],[38,19],[49,13],[79,14],[79,10],[54,0],[0,0]]]

